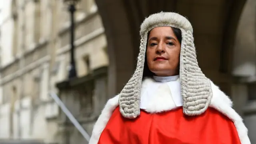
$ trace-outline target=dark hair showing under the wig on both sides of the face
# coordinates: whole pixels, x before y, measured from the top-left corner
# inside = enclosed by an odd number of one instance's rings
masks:
[[[182,35],[181,35],[181,30],[179,28],[174,28],[174,27],[171,27],[175,36],[177,37],[178,41],[180,42],[181,44],[181,41],[182,41]],[[148,32],[148,36],[150,34],[150,31]],[[147,37],[148,38],[148,37]],[[147,40],[147,44],[146,46],[148,45],[148,40]],[[142,78],[145,78],[145,77],[152,77],[154,76],[154,73],[151,72],[148,68],[148,62],[147,62],[147,54],[145,53],[145,61],[144,61],[144,70],[143,70],[143,75],[142,75]]]

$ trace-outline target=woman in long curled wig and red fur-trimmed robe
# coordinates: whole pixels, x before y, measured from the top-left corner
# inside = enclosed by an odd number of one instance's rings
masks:
[[[176,13],[144,20],[137,68],[102,110],[90,144],[250,144],[231,100],[198,67],[192,33]]]

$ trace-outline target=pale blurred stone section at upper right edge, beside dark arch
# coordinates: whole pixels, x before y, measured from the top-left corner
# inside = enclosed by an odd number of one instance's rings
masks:
[[[256,2],[248,0],[244,6],[233,52],[233,76],[250,77],[256,75]]]

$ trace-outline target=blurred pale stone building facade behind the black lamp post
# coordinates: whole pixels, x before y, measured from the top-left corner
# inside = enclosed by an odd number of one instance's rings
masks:
[[[58,142],[58,105],[48,92],[67,79],[70,15],[63,0],[6,0],[0,13],[0,142]],[[94,0],[75,13],[78,77],[108,66],[107,43]]]

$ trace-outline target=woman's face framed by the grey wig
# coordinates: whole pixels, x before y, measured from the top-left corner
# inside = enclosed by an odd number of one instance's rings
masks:
[[[171,27],[153,28],[148,36],[146,51],[149,70],[156,76],[178,75],[180,45]]]

